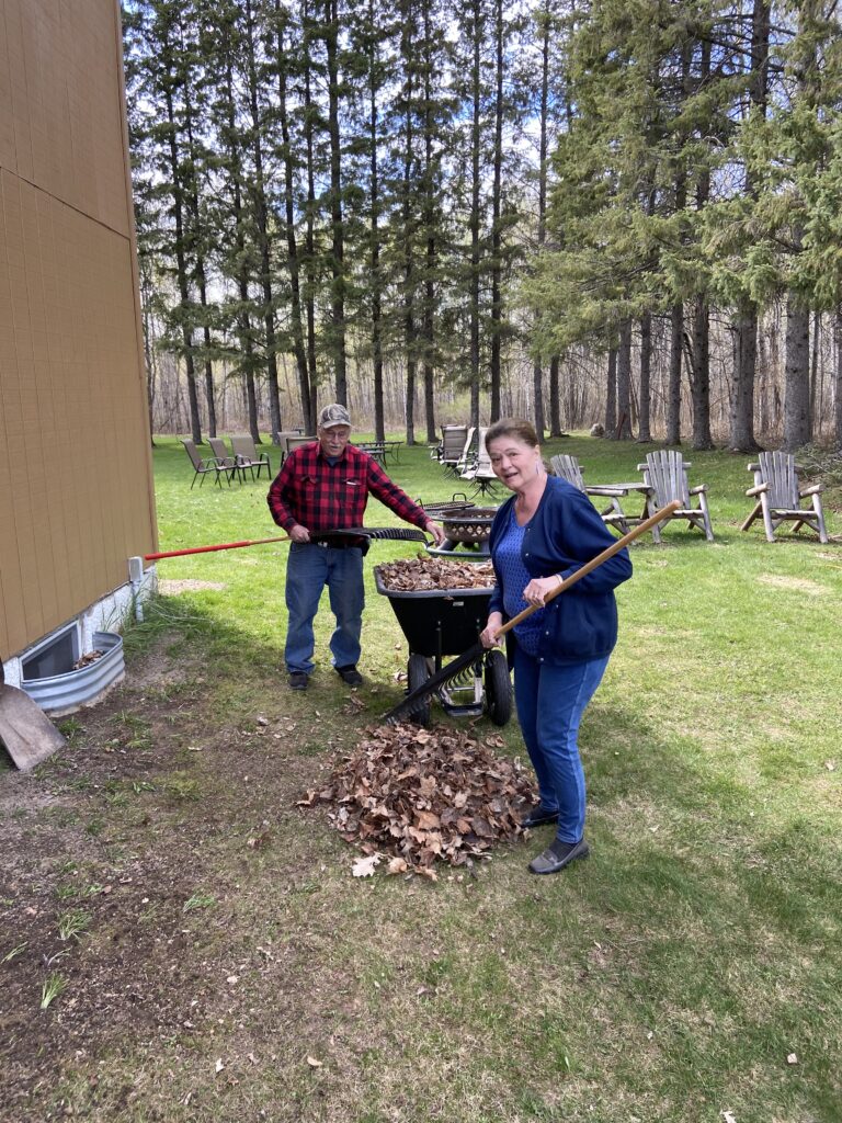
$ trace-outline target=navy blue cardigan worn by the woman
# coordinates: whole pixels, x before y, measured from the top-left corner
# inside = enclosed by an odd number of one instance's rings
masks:
[[[514,499],[513,495],[501,506],[492,523],[488,540],[492,562]],[[527,524],[521,557],[531,577],[549,577],[556,573],[569,577],[615,540],[587,495],[566,480],[548,476],[538,510]],[[489,611],[503,613],[505,620],[496,563],[494,568],[497,585]],[[610,655],[616,643],[614,588],[628,581],[631,573],[629,551],[622,549],[568,592],[550,601],[543,610],[539,661],[580,663]]]

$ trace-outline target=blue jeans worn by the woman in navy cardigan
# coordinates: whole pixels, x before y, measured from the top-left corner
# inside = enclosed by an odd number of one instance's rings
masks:
[[[562,842],[578,842],[585,833],[585,773],[577,734],[607,665],[606,656],[552,667],[515,647],[518,719],[538,776],[541,806],[558,811],[557,837]]]

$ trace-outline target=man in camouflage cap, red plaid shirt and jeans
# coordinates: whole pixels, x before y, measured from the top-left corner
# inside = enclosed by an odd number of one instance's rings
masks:
[[[313,672],[313,619],[326,585],[336,617],[330,638],[333,669],[349,686],[363,682],[357,663],[367,542],[348,536],[313,542],[311,531],[361,527],[370,493],[405,522],[425,530],[437,546],[445,538],[441,527],[388,478],[372,456],[348,444],[350,430],[345,405],[326,405],[319,414],[319,439],[290,453],[267,496],[272,518],[292,539],[286,565],[290,620],[284,657],[294,691],[305,691]]]

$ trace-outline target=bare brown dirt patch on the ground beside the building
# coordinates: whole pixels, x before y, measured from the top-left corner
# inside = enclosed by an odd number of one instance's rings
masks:
[[[174,1119],[132,1108],[130,1068],[107,1058],[253,1021],[255,980],[299,956],[244,946],[235,915],[259,913],[267,864],[282,896],[309,876],[293,803],[318,763],[281,763],[278,716],[214,721],[194,670],[159,642],[60,755],[28,776],[0,761],[2,1121]]]

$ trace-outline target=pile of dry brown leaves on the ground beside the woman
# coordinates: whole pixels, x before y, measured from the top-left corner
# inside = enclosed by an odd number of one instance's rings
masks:
[[[332,769],[320,791],[298,806],[327,804],[347,842],[366,857],[355,877],[390,858],[390,874],[437,879],[434,865],[472,865],[501,839],[522,834],[520,819],[533,805],[533,788],[519,761],[498,757],[500,737],[477,740],[439,727],[376,725],[356,752]]]

